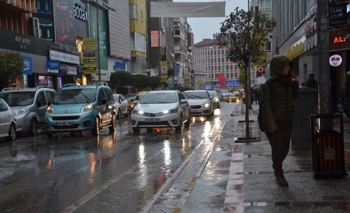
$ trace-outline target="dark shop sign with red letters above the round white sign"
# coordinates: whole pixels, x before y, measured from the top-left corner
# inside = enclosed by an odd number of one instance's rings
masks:
[[[347,36],[350,29],[330,30],[329,31],[329,51],[350,49],[350,40]]]

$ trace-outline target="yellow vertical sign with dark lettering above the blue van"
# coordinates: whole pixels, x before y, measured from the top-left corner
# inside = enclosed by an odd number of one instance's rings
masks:
[[[83,38],[84,74],[96,74],[96,38]]]

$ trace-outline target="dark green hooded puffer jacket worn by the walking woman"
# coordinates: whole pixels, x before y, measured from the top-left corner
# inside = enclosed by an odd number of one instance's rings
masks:
[[[270,133],[276,131],[278,124],[293,121],[294,100],[299,93],[299,83],[294,80],[291,87],[286,89],[277,81],[277,77],[290,62],[291,60],[284,55],[273,57],[270,64],[273,96],[271,97],[267,83],[262,86],[263,118]]]

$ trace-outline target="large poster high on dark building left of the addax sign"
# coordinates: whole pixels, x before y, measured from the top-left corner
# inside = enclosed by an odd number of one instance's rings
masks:
[[[56,43],[76,47],[73,1],[56,0],[54,8]]]

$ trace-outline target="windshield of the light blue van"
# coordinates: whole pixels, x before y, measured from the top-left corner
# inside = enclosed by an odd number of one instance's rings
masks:
[[[96,88],[77,88],[59,90],[54,104],[91,103],[96,101]]]

